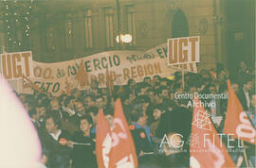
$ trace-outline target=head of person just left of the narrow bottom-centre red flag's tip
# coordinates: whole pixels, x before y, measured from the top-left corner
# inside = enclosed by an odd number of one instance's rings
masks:
[[[85,136],[89,136],[91,132],[91,128],[93,126],[92,117],[89,114],[84,114],[79,119],[80,130]]]

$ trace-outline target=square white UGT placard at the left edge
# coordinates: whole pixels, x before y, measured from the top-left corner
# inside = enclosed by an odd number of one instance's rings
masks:
[[[33,76],[31,51],[4,53],[0,55],[0,74],[6,79],[19,79],[22,76]]]

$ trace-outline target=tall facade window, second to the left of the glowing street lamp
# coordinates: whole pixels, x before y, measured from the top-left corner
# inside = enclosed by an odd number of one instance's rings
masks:
[[[92,11],[91,9],[84,10],[84,47],[93,47],[93,32],[92,32]]]

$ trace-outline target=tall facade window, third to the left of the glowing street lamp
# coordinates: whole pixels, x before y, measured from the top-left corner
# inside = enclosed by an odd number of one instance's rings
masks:
[[[64,21],[64,42],[65,48],[71,49],[72,48],[72,41],[73,41],[73,21],[70,15],[67,15]]]

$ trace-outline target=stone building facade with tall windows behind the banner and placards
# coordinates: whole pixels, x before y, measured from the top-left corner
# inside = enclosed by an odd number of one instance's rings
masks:
[[[13,0],[1,1],[1,8],[0,45],[31,50],[36,61],[141,51],[187,36],[200,36],[199,70],[255,61],[253,0]],[[132,42],[117,42],[119,33]]]

